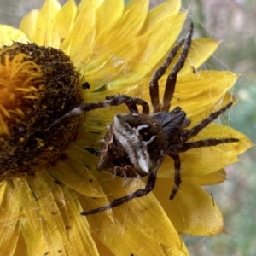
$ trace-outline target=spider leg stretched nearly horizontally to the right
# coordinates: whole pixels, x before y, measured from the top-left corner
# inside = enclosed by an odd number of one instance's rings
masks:
[[[217,146],[218,144],[237,143],[237,142],[239,142],[239,139],[234,137],[219,138],[219,139],[205,139],[205,140],[200,140],[192,143],[181,143],[181,144],[175,145],[175,148],[173,149],[171,148],[171,150],[177,153],[180,153],[180,152],[186,152],[193,148],[212,147],[212,146]]]

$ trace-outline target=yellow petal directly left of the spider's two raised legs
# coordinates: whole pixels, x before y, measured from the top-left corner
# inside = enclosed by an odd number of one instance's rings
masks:
[[[120,74],[117,79],[114,79],[108,84],[109,89],[111,90],[118,86],[119,90],[125,90],[125,84],[133,85],[138,81],[141,82],[146,74],[152,71],[156,63],[159,62],[159,59],[166,55],[166,51],[170,49],[170,45],[172,45],[177,38],[185,17],[186,15],[184,13],[169,16],[166,20],[161,20],[161,24],[158,24],[158,26],[152,27],[148,33],[137,38],[136,41],[141,49],[137,49],[137,55],[133,57],[133,61],[131,61],[130,64],[131,67],[127,66],[125,73]],[[166,26],[165,24],[170,25]],[[165,30],[160,30],[159,26],[165,26]],[[123,49],[123,51],[124,53],[121,55],[125,55],[125,49]],[[147,95],[148,84],[149,81],[147,82],[147,90],[145,91]],[[144,98],[143,95],[140,97]]]

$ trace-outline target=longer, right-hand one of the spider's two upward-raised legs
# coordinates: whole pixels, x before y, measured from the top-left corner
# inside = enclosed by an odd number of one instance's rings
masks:
[[[171,107],[172,96],[174,94],[175,85],[177,81],[177,73],[183,68],[184,63],[187,59],[189,48],[192,41],[193,29],[194,29],[194,26],[193,26],[193,23],[191,23],[189,26],[189,32],[188,32],[187,38],[185,38],[185,41],[183,44],[183,50],[181,52],[181,55],[177,63],[172,67],[172,72],[167,77],[166,89],[163,96],[163,105],[161,108],[161,111],[163,112],[169,111]]]

